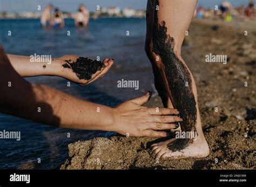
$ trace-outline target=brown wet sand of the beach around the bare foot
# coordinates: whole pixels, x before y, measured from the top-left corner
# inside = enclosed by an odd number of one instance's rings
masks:
[[[255,24],[193,20],[186,37],[182,56],[196,80],[208,157],[158,162],[150,150],[158,138],[98,137],[69,144],[60,169],[255,169]],[[210,53],[226,54],[227,64],[206,63]],[[147,106],[161,107],[160,98]]]

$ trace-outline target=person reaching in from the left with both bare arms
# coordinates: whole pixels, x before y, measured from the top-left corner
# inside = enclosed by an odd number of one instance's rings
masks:
[[[107,107],[75,98],[57,89],[33,84],[23,77],[55,75],[71,81],[79,81],[66,62],[77,61],[78,56],[63,56],[52,59],[51,64],[31,62],[30,57],[5,54],[0,45],[0,112],[22,117],[55,127],[116,131],[129,136],[165,137],[165,129],[175,128],[174,122],[181,121],[176,109],[148,108],[142,106],[151,93]],[[103,77],[113,65],[113,59],[105,58],[104,67],[92,74],[91,79],[77,82],[87,85]],[[40,108],[40,112],[38,112]]]

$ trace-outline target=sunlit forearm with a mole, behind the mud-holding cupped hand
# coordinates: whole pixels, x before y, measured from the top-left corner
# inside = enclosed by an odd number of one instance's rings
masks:
[[[30,56],[19,56],[15,54],[7,54],[12,67],[22,77],[35,77],[39,75],[58,75],[60,72],[59,59],[44,59]]]

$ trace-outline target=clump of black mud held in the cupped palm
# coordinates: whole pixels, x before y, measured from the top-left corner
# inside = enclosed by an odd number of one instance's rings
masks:
[[[79,57],[71,63],[71,60],[65,60],[64,68],[70,68],[76,73],[79,79],[90,80],[92,75],[101,70],[105,65],[101,61],[91,60],[89,58]]]

